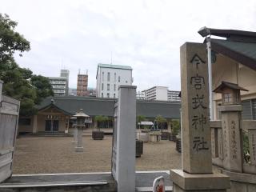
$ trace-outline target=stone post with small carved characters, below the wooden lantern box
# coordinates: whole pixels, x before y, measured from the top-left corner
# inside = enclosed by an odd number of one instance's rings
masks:
[[[240,122],[242,105],[218,106],[222,113],[223,167],[242,173]]]

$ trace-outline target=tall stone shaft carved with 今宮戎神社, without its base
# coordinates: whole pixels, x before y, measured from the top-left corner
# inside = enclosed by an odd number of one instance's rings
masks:
[[[206,46],[181,47],[183,170],[209,174],[211,165],[209,88]]]

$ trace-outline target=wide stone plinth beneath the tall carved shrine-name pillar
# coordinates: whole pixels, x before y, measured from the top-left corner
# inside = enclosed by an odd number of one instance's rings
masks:
[[[183,170],[170,170],[174,192],[226,192],[230,178],[224,174],[188,174]]]

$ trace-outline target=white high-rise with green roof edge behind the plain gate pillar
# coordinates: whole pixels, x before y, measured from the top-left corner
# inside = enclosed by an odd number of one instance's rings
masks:
[[[96,97],[118,98],[118,86],[131,86],[133,83],[132,68],[100,63],[96,79]]]

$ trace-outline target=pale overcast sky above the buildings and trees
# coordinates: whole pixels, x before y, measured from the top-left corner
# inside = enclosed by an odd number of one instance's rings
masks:
[[[0,0],[0,12],[30,41],[18,64],[51,77],[65,66],[74,88],[78,69],[95,87],[112,52],[113,64],[133,68],[137,90],[180,90],[179,47],[203,42],[202,26],[256,31],[254,0]]]

